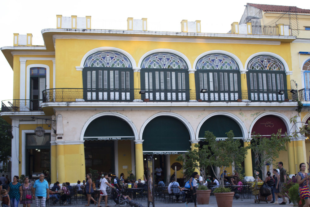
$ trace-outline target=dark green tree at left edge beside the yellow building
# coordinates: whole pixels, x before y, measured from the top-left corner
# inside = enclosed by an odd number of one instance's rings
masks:
[[[12,127],[0,117],[0,162],[11,156]]]

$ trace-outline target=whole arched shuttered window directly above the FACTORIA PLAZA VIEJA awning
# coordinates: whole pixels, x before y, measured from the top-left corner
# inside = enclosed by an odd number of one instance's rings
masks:
[[[174,54],[155,53],[141,65],[141,90],[150,101],[188,101],[188,66]]]

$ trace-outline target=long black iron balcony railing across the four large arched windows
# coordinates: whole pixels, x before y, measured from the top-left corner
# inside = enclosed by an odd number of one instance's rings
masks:
[[[296,101],[297,93],[290,90],[242,90],[236,92],[196,90],[145,90],[145,89],[98,89],[98,88],[52,88],[44,90],[43,102],[253,102]],[[309,91],[308,91],[309,94]],[[310,96],[309,96],[310,98]],[[3,104],[2,104],[3,107]]]

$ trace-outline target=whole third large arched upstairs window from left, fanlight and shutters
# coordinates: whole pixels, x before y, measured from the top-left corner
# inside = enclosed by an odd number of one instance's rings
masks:
[[[237,101],[241,98],[240,72],[234,59],[210,54],[196,65],[196,92],[202,101]]]

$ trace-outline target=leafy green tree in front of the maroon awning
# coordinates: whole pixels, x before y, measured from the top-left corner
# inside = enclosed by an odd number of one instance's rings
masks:
[[[255,168],[261,170],[262,179],[264,179],[267,174],[266,164],[272,164],[279,157],[280,151],[286,151],[286,143],[290,142],[290,137],[281,136],[281,129],[270,138],[255,135],[255,133],[253,135],[250,148],[257,160]]]

